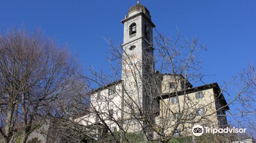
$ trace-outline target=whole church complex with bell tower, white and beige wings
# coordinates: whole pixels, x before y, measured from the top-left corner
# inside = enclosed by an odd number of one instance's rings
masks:
[[[217,83],[194,87],[184,75],[155,69],[150,11],[139,1],[121,20],[124,26],[120,80],[90,92],[90,108],[76,122],[113,132],[146,132],[150,137],[191,135],[194,125],[227,125],[227,102]],[[177,125],[177,126],[176,126]],[[104,134],[95,128],[96,138]]]

